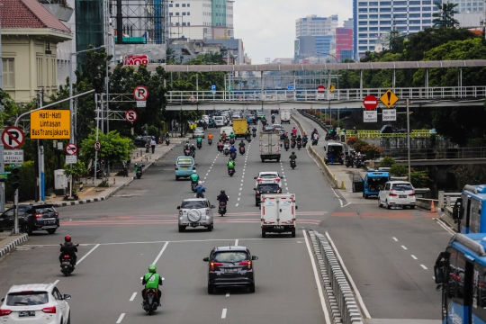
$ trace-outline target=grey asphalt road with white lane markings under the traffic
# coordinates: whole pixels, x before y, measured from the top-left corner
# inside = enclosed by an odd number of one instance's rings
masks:
[[[290,131],[293,125],[284,128]],[[215,217],[212,232],[179,233],[176,206],[193,193],[189,180],[175,181],[175,157],[183,152],[175,148],[108,201],[58,208],[61,228],[56,234],[34,233],[0,262],[0,294],[12,284],[58,281],[61,293],[72,295],[73,322],[325,323],[302,234],[303,229],[316,229],[329,231],[373,318],[439,319],[440,294],[432,266],[450,237],[446,230],[423,211],[386,211],[372,203],[341,208],[346,199],[329,188],[305,150],[295,151],[294,170],[290,151],[284,151],[282,163],[262,163],[254,139],[245,156],[238,154],[236,174],[229,177],[228,158],[218,153],[215,143],[209,147],[204,141],[195,159],[206,197],[216,204],[225,189],[229,213]],[[259,171],[280,172],[284,192],[296,193],[296,238],[261,238],[253,191]],[[58,266],[58,243],[66,234],[82,244],[81,262],[71,277],[63,277]],[[256,293],[229,288],[207,294],[202,258],[212,247],[228,244],[246,246],[259,257]],[[139,278],[151,263],[166,280],[162,307],[149,317],[140,306]]]

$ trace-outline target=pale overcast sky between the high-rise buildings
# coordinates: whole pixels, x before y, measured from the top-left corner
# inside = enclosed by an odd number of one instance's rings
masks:
[[[235,38],[243,40],[252,64],[265,58],[293,58],[295,20],[308,14],[338,14],[339,25],[353,17],[352,0],[235,0]]]

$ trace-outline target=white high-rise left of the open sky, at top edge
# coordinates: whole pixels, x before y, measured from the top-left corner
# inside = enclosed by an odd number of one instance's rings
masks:
[[[234,37],[233,0],[174,0],[168,4],[170,39],[227,40]]]

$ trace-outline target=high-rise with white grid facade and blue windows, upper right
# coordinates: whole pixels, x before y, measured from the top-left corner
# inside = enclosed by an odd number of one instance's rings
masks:
[[[353,0],[355,59],[374,51],[376,40],[394,28],[411,35],[432,27],[432,14],[438,12],[435,3],[442,0]]]

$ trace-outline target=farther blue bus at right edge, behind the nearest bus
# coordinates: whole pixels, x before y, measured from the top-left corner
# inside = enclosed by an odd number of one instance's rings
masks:
[[[464,186],[455,201],[453,218],[459,222],[460,233],[486,233],[486,184]]]

